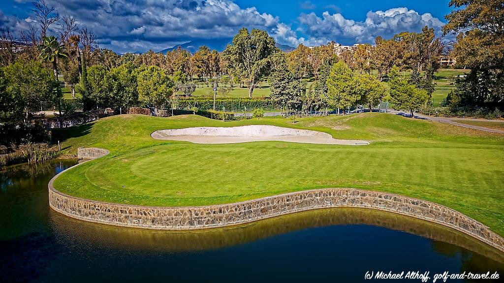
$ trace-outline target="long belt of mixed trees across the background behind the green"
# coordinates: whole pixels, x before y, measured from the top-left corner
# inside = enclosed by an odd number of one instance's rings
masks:
[[[460,8],[446,17],[445,34],[458,34],[451,45],[425,27],[391,39],[377,37],[374,45],[359,44],[339,56],[335,42],[299,45],[284,53],[266,31],[243,28],[222,52],[201,46],[194,54],[178,47],[166,54],[150,50],[119,55],[99,48],[92,31],[38,0],[33,15],[38,26],[17,35],[0,28],[1,124],[26,129],[23,134],[30,136],[31,120],[43,101],[52,102],[59,116],[72,113],[62,96],[60,74],[74,94],[81,94],[84,110],[144,105],[157,111],[169,104],[173,94],[190,95],[195,80],[218,80],[223,93],[230,91],[226,85],[239,84],[252,97],[258,84],[268,80],[270,99],[284,110],[344,112],[356,105],[372,109],[387,99],[393,107],[413,114],[428,104],[439,56],[450,48],[458,63],[471,72],[457,80],[448,103],[503,109],[501,5],[452,0],[450,6]],[[21,52],[15,39],[25,46]],[[409,75],[401,76],[405,70]],[[312,82],[309,88],[308,81]]]

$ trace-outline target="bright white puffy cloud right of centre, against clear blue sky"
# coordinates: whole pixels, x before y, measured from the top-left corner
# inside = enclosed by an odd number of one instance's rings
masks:
[[[372,43],[376,36],[391,38],[403,31],[419,32],[424,26],[434,28],[438,34],[443,22],[426,13],[420,15],[408,8],[394,8],[387,11],[368,12],[363,22],[345,19],[340,13],[324,12],[322,17],[315,13],[301,14],[298,31],[306,34],[306,43],[329,42],[331,40],[351,43]],[[302,42],[302,40],[299,40]]]

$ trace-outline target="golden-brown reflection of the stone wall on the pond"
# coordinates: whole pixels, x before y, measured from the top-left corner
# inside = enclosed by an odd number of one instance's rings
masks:
[[[292,231],[332,225],[372,225],[436,240],[433,248],[452,255],[459,247],[504,263],[504,253],[456,230],[387,211],[365,208],[326,208],[265,219],[254,223],[196,231],[158,231],[114,227],[61,216],[51,222],[61,235],[95,245],[167,252],[216,249],[239,245]],[[450,245],[444,245],[448,243]],[[457,246],[454,246],[457,245]]]

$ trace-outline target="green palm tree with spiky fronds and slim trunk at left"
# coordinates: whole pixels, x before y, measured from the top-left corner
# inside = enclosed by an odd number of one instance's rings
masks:
[[[42,43],[38,46],[40,51],[40,58],[43,61],[52,63],[52,70],[54,72],[54,77],[56,82],[58,83],[59,89],[59,80],[58,80],[58,59],[66,59],[68,58],[68,53],[66,52],[66,48],[64,44],[59,44],[58,39],[54,36],[42,38]],[[58,110],[59,110],[59,127],[63,127],[63,123],[61,121],[61,99],[58,101]]]

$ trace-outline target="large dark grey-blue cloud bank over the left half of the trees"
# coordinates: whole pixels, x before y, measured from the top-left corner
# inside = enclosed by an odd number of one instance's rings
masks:
[[[173,42],[232,37],[242,27],[271,31],[276,16],[242,9],[231,0],[48,0],[60,15],[73,15],[103,47],[119,52],[169,47]],[[134,41],[132,43],[131,41]]]

